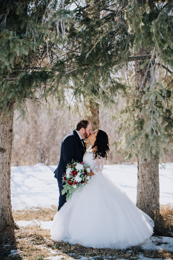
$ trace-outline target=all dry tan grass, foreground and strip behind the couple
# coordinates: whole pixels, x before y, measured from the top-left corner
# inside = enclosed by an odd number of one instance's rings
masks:
[[[172,225],[172,212],[171,207],[161,206],[161,212],[164,212],[164,218],[168,215],[170,226]],[[38,208],[29,209],[26,211],[14,211],[14,219],[17,220],[34,220],[49,221],[57,212],[55,207],[50,209]],[[167,221],[166,223],[169,223]],[[157,238],[156,238],[157,239]],[[159,243],[160,243],[159,239]],[[5,246],[8,245],[8,246]],[[19,255],[10,255],[11,250],[17,250]],[[55,254],[52,254],[51,250]],[[63,260],[79,259],[81,256],[94,257],[96,260],[103,260],[111,257],[111,259],[131,259],[135,260],[143,254],[148,258],[161,258],[161,259],[173,259],[173,252],[167,250],[144,250],[141,246],[131,246],[125,250],[117,249],[94,249],[85,248],[79,244],[71,245],[66,242],[54,242],[51,240],[50,231],[40,229],[39,226],[29,226],[14,230],[7,228],[0,233],[0,260],[43,260],[46,257],[60,255]]]

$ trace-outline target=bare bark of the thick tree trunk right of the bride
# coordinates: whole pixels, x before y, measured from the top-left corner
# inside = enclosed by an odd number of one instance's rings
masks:
[[[150,53],[149,49],[140,49],[136,54],[147,55],[148,53]],[[147,65],[143,69],[140,68],[143,62],[144,61],[135,62],[135,90],[136,100],[139,107],[145,105],[140,103],[142,98],[142,88],[139,91],[147,68]],[[145,82],[149,77],[150,75],[148,72]],[[142,118],[139,109],[137,109],[136,116],[138,119]],[[157,216],[157,214],[159,214],[159,161],[156,155],[151,155],[150,160],[145,157],[144,161],[141,160],[141,157],[141,152],[139,150],[137,160],[137,207],[147,213],[154,220],[155,215]]]

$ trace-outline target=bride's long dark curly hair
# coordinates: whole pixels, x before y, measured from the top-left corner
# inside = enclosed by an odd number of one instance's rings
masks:
[[[94,147],[95,147],[95,151],[94,151],[95,158],[98,156],[99,159],[101,157],[107,159],[107,153],[109,154],[109,151],[110,151],[109,138],[108,138],[107,133],[100,128],[98,129],[96,140],[95,140],[92,148],[94,148]]]

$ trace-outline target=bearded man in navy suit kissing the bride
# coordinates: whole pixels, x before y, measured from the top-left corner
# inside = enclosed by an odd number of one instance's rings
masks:
[[[61,191],[63,189],[62,176],[66,172],[66,166],[72,160],[81,162],[83,160],[83,155],[86,151],[86,145],[83,139],[88,139],[91,134],[92,127],[88,120],[80,120],[77,123],[76,130],[73,130],[71,133],[66,135],[62,140],[61,144],[61,155],[59,159],[58,167],[55,170],[55,178],[58,181],[59,187],[59,209],[66,202],[66,195],[62,195]]]

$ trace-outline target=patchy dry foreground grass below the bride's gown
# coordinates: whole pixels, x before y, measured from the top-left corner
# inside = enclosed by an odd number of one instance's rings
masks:
[[[10,235],[11,232],[11,235]],[[8,235],[7,235],[8,233]],[[66,242],[54,242],[51,240],[49,230],[40,229],[40,227],[29,226],[19,230],[10,229],[4,231],[3,240],[1,240],[1,249],[4,254],[1,260],[42,260],[46,257],[61,255],[65,259],[79,259],[81,256],[94,257],[94,259],[138,259],[142,253],[148,258],[173,259],[173,253],[167,250],[144,250],[141,246],[129,246],[125,250],[108,248],[85,248],[79,244],[71,245]],[[0,234],[2,235],[2,233]],[[10,244],[6,247],[4,245]],[[11,250],[18,250],[19,255],[8,257]],[[51,250],[56,254],[51,255]]]

